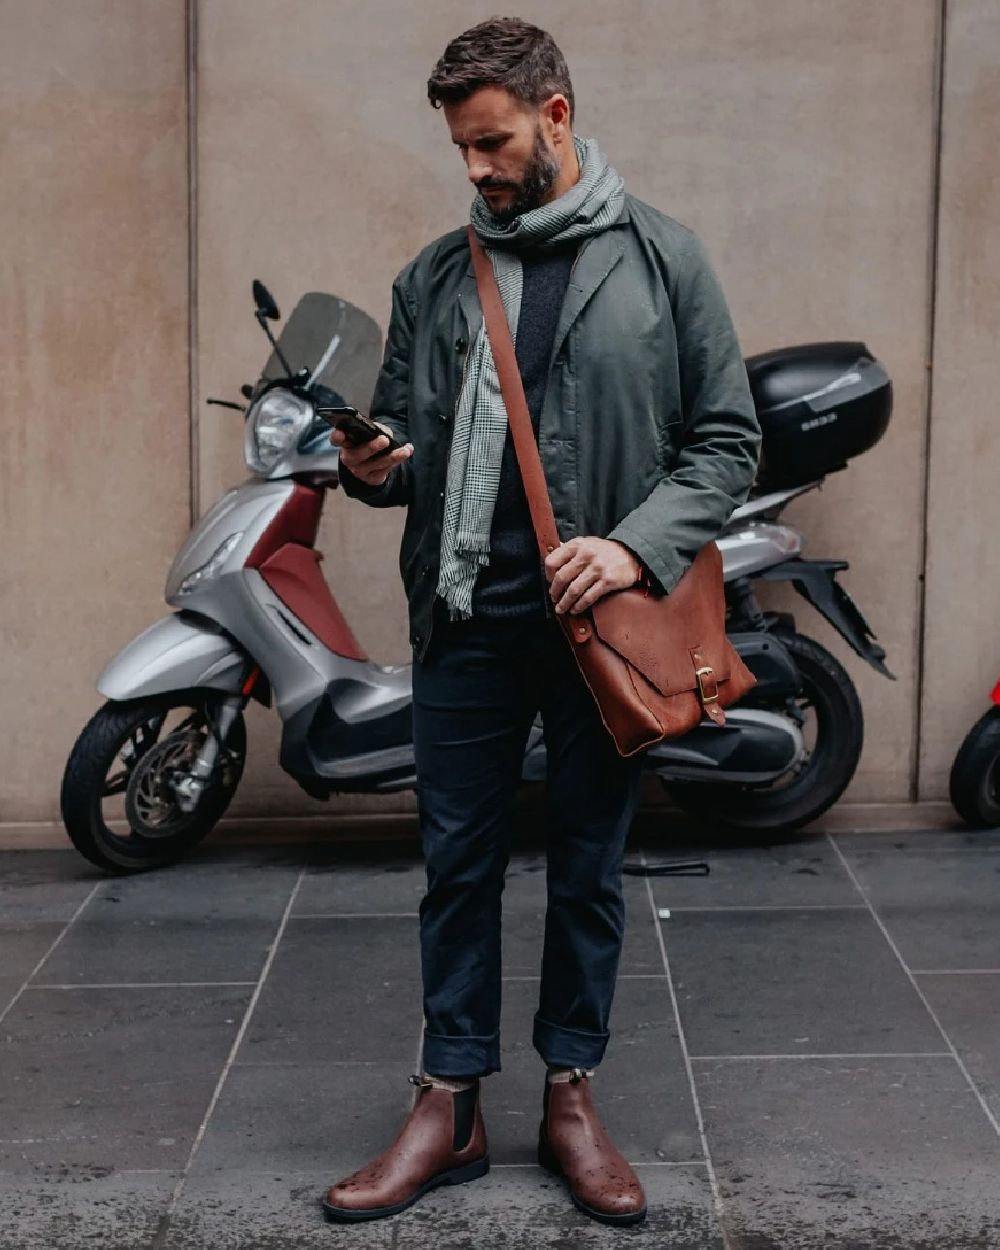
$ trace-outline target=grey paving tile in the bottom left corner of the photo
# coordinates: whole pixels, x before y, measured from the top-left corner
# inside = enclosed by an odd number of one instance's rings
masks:
[[[176,1179],[110,1168],[61,1180],[0,1171],[0,1250],[148,1250]]]

